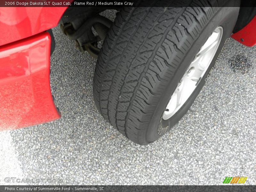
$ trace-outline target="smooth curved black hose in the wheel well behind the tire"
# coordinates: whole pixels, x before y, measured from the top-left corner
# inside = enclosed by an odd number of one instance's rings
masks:
[[[105,25],[106,27],[110,28],[112,21],[107,19],[106,17],[97,15],[95,17],[92,17],[92,18],[86,20],[83,23],[83,25],[77,29],[76,32],[70,34],[67,31],[67,36],[72,40],[76,40],[79,37],[81,37],[82,35],[84,35],[84,33],[86,33],[86,31],[91,30],[92,25],[95,23],[101,23],[101,24]]]

